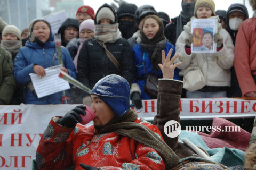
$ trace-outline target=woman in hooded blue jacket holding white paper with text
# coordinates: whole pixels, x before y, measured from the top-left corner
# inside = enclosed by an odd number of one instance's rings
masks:
[[[45,68],[58,65],[55,52],[55,42],[50,24],[45,20],[35,20],[31,23],[29,40],[22,47],[14,61],[15,80],[24,86],[23,97],[25,104],[61,104],[62,92],[37,98],[29,73],[36,73],[40,77],[46,75]],[[62,71],[76,79],[76,69],[68,50],[62,49]]]

